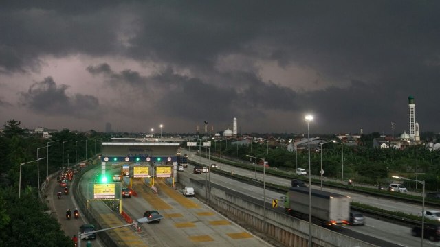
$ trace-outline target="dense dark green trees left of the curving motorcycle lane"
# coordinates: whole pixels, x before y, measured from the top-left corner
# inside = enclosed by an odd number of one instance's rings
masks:
[[[50,139],[43,139],[41,135],[29,134],[16,120],[8,121],[3,132],[0,137],[0,246],[73,246],[56,219],[45,213],[49,209],[44,198],[39,198],[38,180],[43,183],[47,174],[63,167],[63,142],[64,163],[69,165],[76,157],[78,161],[86,156],[91,158],[101,151],[100,143],[111,137],[94,131],[85,135],[65,129]],[[43,148],[47,142],[50,142],[49,150]],[[48,158],[48,161],[32,162],[37,159],[37,149],[39,158]],[[37,174],[37,165],[40,174]]]

